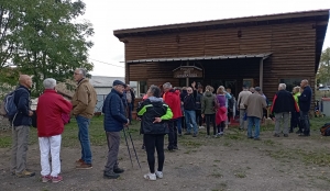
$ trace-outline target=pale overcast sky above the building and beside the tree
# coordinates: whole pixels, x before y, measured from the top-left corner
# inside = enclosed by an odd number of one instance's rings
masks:
[[[220,20],[296,11],[330,9],[330,0],[82,0],[79,20],[92,23],[95,45],[89,50],[92,76],[124,76],[124,44],[114,30]],[[330,22],[329,22],[330,25]],[[330,27],[323,49],[330,47]]]

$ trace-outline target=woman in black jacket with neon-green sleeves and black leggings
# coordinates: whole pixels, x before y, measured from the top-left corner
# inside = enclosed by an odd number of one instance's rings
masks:
[[[164,104],[161,97],[161,89],[151,86],[147,91],[147,99],[138,108],[138,115],[142,117],[142,133],[147,155],[150,172],[144,175],[147,180],[163,178],[164,136],[168,133],[166,120],[173,117],[168,105]],[[158,157],[158,169],[155,171],[155,148]]]

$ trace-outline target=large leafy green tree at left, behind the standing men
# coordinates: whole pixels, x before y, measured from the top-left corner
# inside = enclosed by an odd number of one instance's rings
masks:
[[[20,4],[22,1],[13,2]],[[87,21],[75,22],[85,13],[86,4],[80,0],[28,2],[19,10],[10,10],[19,12],[15,14],[19,22],[10,32],[13,50],[9,58],[16,70],[33,76],[33,93],[38,96],[45,78],[65,82],[72,78],[75,68],[84,67],[88,71],[92,69],[87,57],[88,49],[94,44],[87,38],[94,35],[94,30]]]

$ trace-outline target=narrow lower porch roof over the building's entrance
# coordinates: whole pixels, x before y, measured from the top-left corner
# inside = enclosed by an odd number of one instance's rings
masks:
[[[266,59],[272,53],[246,54],[246,55],[220,55],[220,56],[199,56],[199,57],[176,57],[176,58],[152,58],[127,60],[128,64],[134,63],[163,63],[163,61],[184,61],[184,60],[211,60],[211,59],[235,59],[235,58],[263,58]]]

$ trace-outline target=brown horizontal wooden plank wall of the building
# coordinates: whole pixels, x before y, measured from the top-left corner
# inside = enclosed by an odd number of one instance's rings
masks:
[[[312,24],[308,21],[127,37],[125,60],[273,53],[264,61],[263,85],[265,94],[272,98],[282,78],[307,78],[311,87],[315,86],[316,30]],[[241,37],[238,37],[239,31]],[[234,65],[232,60],[226,61],[205,61],[202,65],[211,67],[206,78],[218,78],[217,71],[223,70],[231,79],[246,77],[258,81],[258,60],[234,60]],[[178,80],[172,79],[172,70],[177,66],[179,64],[170,63],[130,65],[128,74],[131,81],[147,79],[148,83],[157,85],[167,80],[175,86]]]

